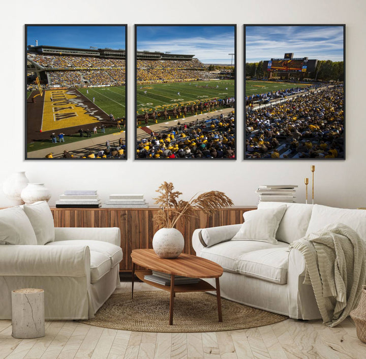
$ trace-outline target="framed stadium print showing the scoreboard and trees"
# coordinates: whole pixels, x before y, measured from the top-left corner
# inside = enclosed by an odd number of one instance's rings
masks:
[[[245,159],[345,159],[345,25],[246,25],[245,96]]]

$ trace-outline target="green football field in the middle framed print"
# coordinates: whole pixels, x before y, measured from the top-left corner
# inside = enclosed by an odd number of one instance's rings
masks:
[[[146,93],[145,93],[146,92]],[[171,84],[137,85],[137,114],[153,109],[188,105],[205,99],[231,97],[234,80],[174,82]]]

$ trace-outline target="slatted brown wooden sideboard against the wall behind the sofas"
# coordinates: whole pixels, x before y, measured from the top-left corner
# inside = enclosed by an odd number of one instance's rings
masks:
[[[197,228],[234,225],[243,222],[242,214],[256,209],[255,206],[237,206],[218,209],[214,215],[206,216],[196,211],[196,217],[188,223],[180,220],[176,228],[185,238],[184,253],[195,254],[192,234]],[[51,208],[55,227],[118,227],[121,232],[120,246],[124,259],[120,271],[131,271],[131,252],[138,248],[152,248],[157,231],[154,214],[158,208]]]

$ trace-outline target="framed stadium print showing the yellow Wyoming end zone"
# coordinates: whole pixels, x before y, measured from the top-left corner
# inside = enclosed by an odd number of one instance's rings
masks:
[[[25,159],[126,159],[127,25],[25,25]]]

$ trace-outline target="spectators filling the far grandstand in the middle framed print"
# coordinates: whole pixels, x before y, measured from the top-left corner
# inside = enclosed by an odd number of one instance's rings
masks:
[[[137,81],[197,80],[216,78],[198,60],[137,60]]]

